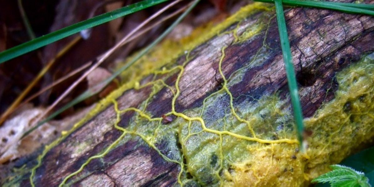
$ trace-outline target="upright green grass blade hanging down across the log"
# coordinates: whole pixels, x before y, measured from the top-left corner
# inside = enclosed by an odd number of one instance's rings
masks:
[[[286,21],[284,18],[282,0],[275,0],[275,11],[278,22],[279,37],[281,39],[281,47],[283,53],[283,62],[285,64],[287,82],[289,88],[289,95],[291,96],[292,109],[294,110],[294,119],[297,126],[298,140],[300,141],[300,147],[303,148],[303,113],[301,112],[300,98],[298,94],[296,76],[294,66],[292,65],[291,48],[289,47],[288,34],[286,28]]]

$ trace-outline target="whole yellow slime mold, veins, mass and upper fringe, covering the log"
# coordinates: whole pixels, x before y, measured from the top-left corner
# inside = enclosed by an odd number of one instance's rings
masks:
[[[259,13],[256,19],[242,21],[260,10],[269,15]],[[288,96],[280,96],[280,91],[265,92],[260,97],[245,93],[237,96],[232,92],[233,86],[243,81],[246,71],[263,65],[265,56],[271,54],[272,49],[265,41],[266,34],[253,58],[229,75],[223,68],[229,44],[214,43],[218,46],[218,56],[214,56],[212,66],[217,67],[214,78],[221,81],[220,85],[215,91],[208,92],[200,105],[184,110],[178,108],[178,104],[181,105],[178,99],[186,97],[182,94],[182,82],[186,82],[185,76],[190,71],[188,65],[195,58],[194,47],[214,36],[231,35],[234,44],[254,40],[264,30],[267,33],[270,23],[263,24],[263,21],[272,18],[274,12],[270,6],[254,3],[209,33],[198,29],[195,35],[200,37],[196,40],[166,40],[122,74],[126,78],[122,79],[125,83],[121,88],[100,101],[73,129],[62,133],[61,138],[44,148],[27,175],[30,184],[34,186],[35,181],[43,177],[37,170],[49,151],[61,142],[72,142],[68,136],[105,108],[113,109],[115,117],[101,128],[114,129],[120,135],[113,142],[106,142],[93,156],[76,162],[79,163],[76,170],[58,179],[60,186],[74,184],[92,175],[94,171],[86,169],[92,163],[106,166],[122,159],[105,161],[111,151],[129,141],[138,142],[137,146],[145,145],[155,150],[164,162],[177,165],[176,186],[302,186],[327,172],[329,165],[340,162],[352,150],[361,148],[361,143],[374,137],[374,54],[364,56],[336,73],[338,86],[334,98],[304,119],[306,129],[312,132],[306,139],[309,145],[306,153],[298,151]],[[242,23],[254,27],[239,27]],[[188,41],[190,43],[186,43]],[[177,47],[180,44],[185,47]],[[163,48],[170,50],[164,52]],[[119,99],[123,93],[144,89],[150,91],[139,105],[121,107],[123,103]],[[157,96],[161,91],[165,94]],[[170,110],[162,115],[149,110],[151,103],[168,97]],[[245,99],[239,102],[238,98]],[[126,115],[130,117],[125,118],[125,122],[123,116]],[[165,117],[168,117],[167,121]],[[94,143],[95,140],[87,138],[69,144],[75,147],[70,158],[75,159],[75,155],[89,151],[89,145]],[[17,177],[13,177],[13,181],[9,184],[16,183]]]

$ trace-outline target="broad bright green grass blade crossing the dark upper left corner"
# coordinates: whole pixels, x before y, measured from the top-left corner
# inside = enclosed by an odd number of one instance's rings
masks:
[[[8,50],[5,50],[0,53],[0,64],[15,58],[17,56],[23,55],[27,52],[32,50],[38,49],[45,45],[48,45],[52,42],[56,42],[57,40],[61,40],[65,37],[68,37],[72,34],[78,33],[79,31],[95,27],[97,25],[103,24],[105,22],[111,21],[113,19],[128,15],[130,13],[137,12],[139,10],[145,9],[150,6],[154,6],[156,4],[162,3],[167,0],[144,0],[138,3],[131,4],[129,6],[122,7],[117,10],[113,10],[111,12],[104,13],[102,15],[95,16],[91,19],[87,19],[85,21],[70,25],[68,27],[62,28],[60,30],[54,31],[49,33],[45,36],[39,37],[37,39],[31,40],[29,42],[25,42],[21,45],[12,47]]]

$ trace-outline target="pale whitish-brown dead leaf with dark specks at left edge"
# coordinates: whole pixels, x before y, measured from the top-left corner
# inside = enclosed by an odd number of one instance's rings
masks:
[[[29,105],[30,106],[30,105]],[[0,128],[0,164],[29,155],[55,140],[62,131],[67,131],[82,119],[93,106],[76,112],[73,116],[62,120],[45,123],[21,140],[22,135],[31,129],[31,124],[37,116],[44,112],[44,108],[28,108],[17,116],[7,120]]]

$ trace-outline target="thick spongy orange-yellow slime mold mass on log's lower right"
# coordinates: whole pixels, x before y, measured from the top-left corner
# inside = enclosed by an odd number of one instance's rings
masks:
[[[310,159],[299,157],[289,144],[252,145],[242,162],[226,172],[230,186],[300,186],[329,171],[352,150],[374,136],[374,53],[336,76],[335,99],[305,119],[313,132],[307,139]]]

